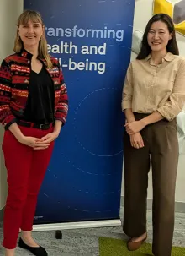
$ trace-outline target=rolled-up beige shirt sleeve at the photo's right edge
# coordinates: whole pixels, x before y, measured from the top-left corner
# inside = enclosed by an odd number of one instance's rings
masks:
[[[182,111],[185,103],[185,59],[180,63],[172,94],[168,101],[157,109],[168,121],[172,121]]]

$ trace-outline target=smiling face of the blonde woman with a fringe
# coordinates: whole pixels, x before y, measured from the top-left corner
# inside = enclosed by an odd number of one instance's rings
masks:
[[[29,19],[26,24],[18,27],[18,35],[24,43],[24,47],[39,46],[40,38],[43,35],[43,25],[40,22],[34,22]]]

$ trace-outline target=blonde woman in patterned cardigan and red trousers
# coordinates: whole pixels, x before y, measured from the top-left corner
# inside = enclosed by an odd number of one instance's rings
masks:
[[[15,255],[20,229],[18,246],[45,256],[31,231],[54,140],[66,123],[68,100],[60,65],[47,52],[38,12],[26,10],[19,16],[14,52],[0,69],[0,122],[8,171],[3,247],[6,256]]]

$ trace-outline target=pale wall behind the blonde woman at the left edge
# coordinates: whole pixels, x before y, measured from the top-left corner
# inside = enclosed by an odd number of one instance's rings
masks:
[[[13,53],[13,40],[16,31],[16,20],[23,11],[23,0],[0,0],[0,62]],[[3,128],[0,128],[0,145],[3,142]],[[7,197],[6,169],[3,152],[0,150],[0,210]]]

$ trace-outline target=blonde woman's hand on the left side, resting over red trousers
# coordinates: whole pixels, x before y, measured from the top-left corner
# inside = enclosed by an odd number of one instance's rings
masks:
[[[18,139],[21,144],[27,145],[35,150],[45,150],[49,147],[49,143],[45,143],[44,139],[23,136],[21,139]]]

